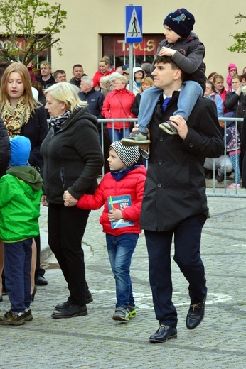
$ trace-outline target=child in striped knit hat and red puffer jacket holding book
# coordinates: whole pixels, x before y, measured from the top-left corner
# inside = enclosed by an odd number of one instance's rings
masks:
[[[136,307],[132,294],[130,265],[132,254],[137,245],[141,202],[146,179],[144,165],[139,165],[139,148],[127,148],[120,141],[114,141],[109,148],[109,167],[100,182],[95,194],[84,194],[77,202],[80,209],[100,209],[102,231],[106,233],[109,262],[116,284],[117,304],[112,319],[129,321],[136,315]],[[114,200],[121,199],[121,206]],[[124,200],[131,199],[131,202]],[[65,206],[69,194],[65,196]]]

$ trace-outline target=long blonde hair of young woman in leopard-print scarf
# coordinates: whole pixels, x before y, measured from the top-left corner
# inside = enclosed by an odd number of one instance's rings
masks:
[[[16,72],[21,76],[24,92],[23,95],[26,97],[26,105],[30,106],[31,111],[34,111],[41,104],[34,99],[33,92],[31,91],[31,78],[26,65],[21,64],[21,62],[12,62],[9,67],[6,68],[4,75],[1,79],[1,89],[0,89],[0,110],[4,108],[6,101],[9,100],[9,95],[7,92],[7,84],[9,82],[9,76],[12,72]]]

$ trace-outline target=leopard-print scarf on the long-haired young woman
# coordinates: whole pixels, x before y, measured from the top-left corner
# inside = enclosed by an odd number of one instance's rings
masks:
[[[26,104],[26,97],[22,96],[18,99],[16,109],[13,109],[9,100],[6,101],[1,118],[4,121],[9,138],[20,135],[21,127],[26,126],[31,115],[30,106]]]

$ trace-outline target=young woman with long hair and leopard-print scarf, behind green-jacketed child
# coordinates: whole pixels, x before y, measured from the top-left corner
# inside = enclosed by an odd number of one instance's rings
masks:
[[[46,111],[43,105],[34,99],[28,69],[21,62],[11,63],[4,71],[1,79],[0,115],[10,139],[18,135],[29,138],[31,141],[29,163],[36,167],[42,175],[43,158],[40,147],[48,133]],[[36,285],[47,285],[43,277],[45,270],[40,268],[40,236],[37,236],[35,241],[37,250],[35,283]],[[33,258],[36,251],[34,246]],[[31,293],[33,294],[35,290],[32,275]]]

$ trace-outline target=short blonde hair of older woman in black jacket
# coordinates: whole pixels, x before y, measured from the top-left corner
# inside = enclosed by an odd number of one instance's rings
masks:
[[[72,112],[80,106],[87,105],[85,101],[80,100],[73,84],[70,84],[69,82],[58,82],[53,84],[46,89],[44,94],[50,94],[55,100],[64,102],[67,109],[71,109]]]

